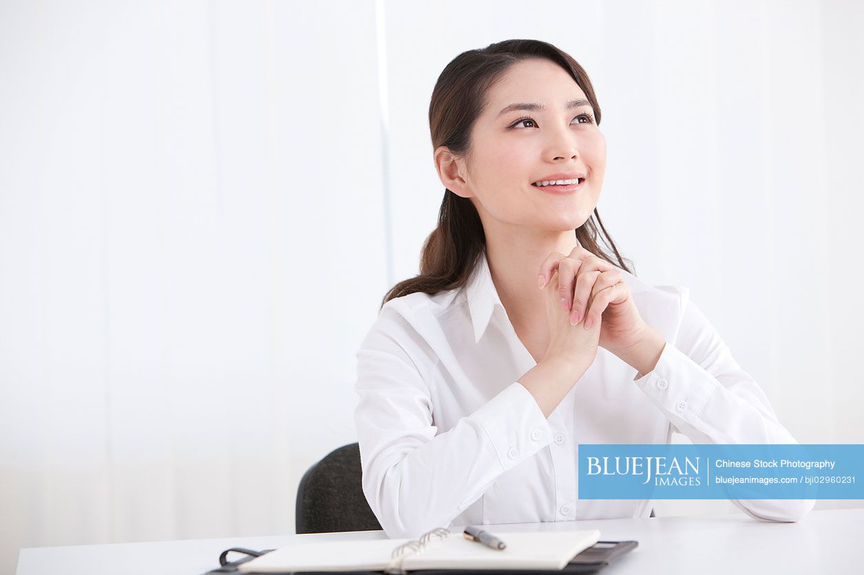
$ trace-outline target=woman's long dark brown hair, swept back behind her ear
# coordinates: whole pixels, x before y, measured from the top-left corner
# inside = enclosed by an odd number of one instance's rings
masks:
[[[490,44],[483,49],[463,52],[444,68],[435,82],[429,103],[432,149],[447,146],[454,155],[468,155],[471,148],[471,129],[486,107],[487,92],[511,66],[531,58],[551,60],[568,72],[585,92],[594,107],[595,121],[600,125],[600,104],[594,96],[594,87],[588,74],[572,56],[543,41],[507,40]],[[603,242],[611,248],[618,262],[613,262],[612,256],[600,249],[594,218],[603,232]],[[585,224],[576,228],[575,234],[580,245],[594,256],[633,274],[603,227],[597,208],[594,208],[594,215],[588,218]],[[445,188],[438,213],[438,226],[422,246],[420,275],[393,286],[384,295],[381,306],[384,307],[384,304],[393,298],[415,292],[434,295],[441,290],[462,288],[467,284],[475,264],[485,251],[486,234],[471,200]]]

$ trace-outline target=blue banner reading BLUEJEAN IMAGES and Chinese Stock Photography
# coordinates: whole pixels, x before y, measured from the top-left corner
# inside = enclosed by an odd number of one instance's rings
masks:
[[[861,499],[864,445],[587,445],[580,499]]]

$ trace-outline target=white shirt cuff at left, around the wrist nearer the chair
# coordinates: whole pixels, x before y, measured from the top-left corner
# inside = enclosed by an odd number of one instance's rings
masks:
[[[486,431],[503,471],[530,458],[552,441],[549,421],[534,395],[519,382],[511,383],[470,417]]]

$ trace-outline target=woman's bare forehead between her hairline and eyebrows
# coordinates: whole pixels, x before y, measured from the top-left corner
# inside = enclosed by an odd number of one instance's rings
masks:
[[[545,59],[522,60],[492,86],[486,113],[494,117],[505,105],[514,102],[537,102],[547,108],[557,108],[575,98],[588,99],[561,66]]]

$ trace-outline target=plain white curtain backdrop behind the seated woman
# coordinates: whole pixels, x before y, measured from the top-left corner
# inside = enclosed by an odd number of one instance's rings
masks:
[[[637,275],[689,286],[801,442],[864,443],[861,29],[853,0],[4,0],[0,572],[293,533],[435,225],[435,79],[506,38],[593,79]]]

